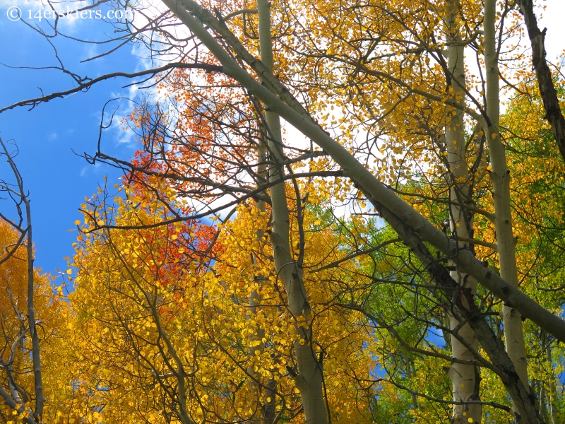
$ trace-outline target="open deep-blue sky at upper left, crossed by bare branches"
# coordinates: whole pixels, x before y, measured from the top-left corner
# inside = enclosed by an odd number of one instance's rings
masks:
[[[25,6],[20,8],[25,10]],[[11,66],[57,65],[49,43],[23,23],[8,20],[6,9],[4,7],[0,15],[0,62]],[[112,31],[112,28],[102,25],[100,21],[82,20],[72,27],[67,25],[66,29],[75,37],[100,37],[102,30]],[[69,40],[57,39],[55,45],[64,64],[82,76],[136,71],[141,64],[132,54],[131,47],[102,60],[79,64],[80,60],[101,50]],[[37,97],[40,88],[44,93],[50,93],[72,86],[71,78],[54,70],[0,66],[0,75],[3,81],[0,84],[0,107]],[[109,176],[111,184],[117,182],[119,174],[115,170],[104,165],[88,165],[73,150],[77,153],[95,152],[102,107],[110,98],[131,95],[128,88],[122,88],[125,83],[124,78],[119,78],[97,84],[88,93],[52,100],[35,110],[20,107],[0,114],[0,136],[4,141],[16,141],[20,150],[16,162],[32,201],[36,266],[44,271],[54,273],[56,268],[67,268],[64,257],[73,253],[71,244],[76,239],[76,230],[68,230],[74,228],[76,219],[81,218],[78,213],[81,202],[85,196],[95,193],[97,184],[103,183],[105,175]],[[119,113],[129,112],[128,102],[120,102],[120,105]],[[130,142],[124,143],[128,139]],[[134,151],[131,137],[118,126],[105,131],[102,140],[107,153],[129,158]],[[5,167],[0,170],[5,177]],[[9,206],[6,202],[0,203],[1,211],[9,211]]]

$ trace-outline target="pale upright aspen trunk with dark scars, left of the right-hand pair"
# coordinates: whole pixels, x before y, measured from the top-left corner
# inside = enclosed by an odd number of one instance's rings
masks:
[[[465,57],[463,46],[458,45],[461,42],[460,25],[458,17],[460,13],[460,4],[458,0],[448,0],[446,2],[446,33],[449,45],[447,47],[447,65],[448,65],[448,81],[451,81],[448,88],[455,102],[462,102],[465,98]],[[467,151],[465,150],[465,120],[462,110],[448,108],[446,122],[446,149],[447,160],[449,165],[448,183],[451,186],[450,197],[457,204],[466,204],[470,202],[471,190],[468,185],[469,170],[467,166]],[[472,217],[460,206],[451,205],[450,208],[451,232],[458,239],[472,239]],[[458,242],[461,249],[470,249],[468,242]],[[451,277],[458,282],[461,288],[470,288],[472,295],[477,293],[477,281],[459,269],[451,271]],[[456,317],[449,314],[449,322],[451,329],[459,326]],[[463,338],[469,346],[476,349],[478,341],[475,338],[475,332],[469,324],[457,330],[458,336]],[[465,344],[461,343],[458,338],[451,336],[451,349],[453,358],[472,360],[474,355],[469,351]],[[454,363],[448,371],[448,377],[451,379],[453,401],[467,402],[478,401],[477,387],[480,384],[480,372],[475,370],[473,365],[463,365]],[[469,423],[472,419],[473,423],[480,423],[482,417],[482,407],[477,404],[464,404],[453,406],[452,423]]]

